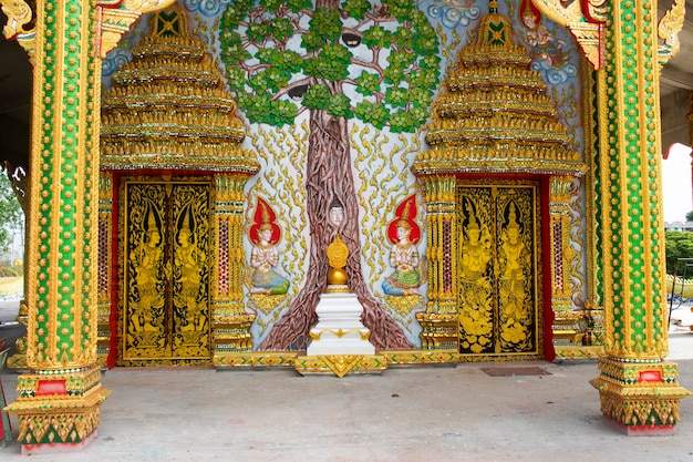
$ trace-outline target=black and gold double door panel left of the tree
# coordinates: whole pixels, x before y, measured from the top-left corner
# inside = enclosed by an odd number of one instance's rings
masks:
[[[118,365],[209,363],[210,184],[124,181]]]

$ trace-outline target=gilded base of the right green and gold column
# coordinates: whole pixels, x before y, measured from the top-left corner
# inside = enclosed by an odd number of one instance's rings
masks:
[[[602,357],[599,390],[601,412],[629,435],[665,435],[680,421],[679,403],[691,392],[679,387],[673,362],[635,362]]]

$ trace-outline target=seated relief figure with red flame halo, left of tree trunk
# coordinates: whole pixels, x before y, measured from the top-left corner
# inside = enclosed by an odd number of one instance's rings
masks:
[[[255,224],[250,227],[251,294],[282,295],[289,290],[289,280],[275,270],[279,264],[277,243],[281,238],[281,229],[275,219],[272,208],[258,197]]]

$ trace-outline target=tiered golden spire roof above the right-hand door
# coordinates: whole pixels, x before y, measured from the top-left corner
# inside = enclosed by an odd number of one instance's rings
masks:
[[[541,173],[580,175],[586,167],[558,119],[547,85],[513,42],[509,20],[489,2],[476,42],[464,47],[432,109],[416,175]]]

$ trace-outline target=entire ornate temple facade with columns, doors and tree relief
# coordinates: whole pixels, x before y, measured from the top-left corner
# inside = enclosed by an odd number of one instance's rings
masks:
[[[0,4],[34,69],[24,448],[87,443],[114,367],[591,358],[604,417],[679,422],[682,2]]]

